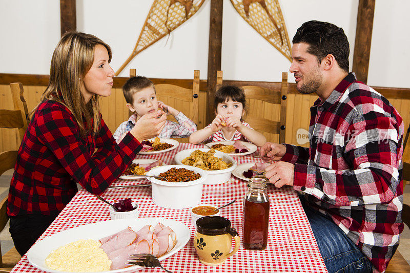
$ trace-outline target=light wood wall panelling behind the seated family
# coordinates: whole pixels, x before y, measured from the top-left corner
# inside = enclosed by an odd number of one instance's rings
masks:
[[[40,101],[40,97],[46,86],[24,86],[25,98],[27,101],[27,107],[31,111]],[[392,92],[392,91],[389,91]],[[165,103],[174,105],[173,101],[166,100],[169,98],[163,98]],[[310,107],[317,99],[315,95],[302,95],[289,93],[288,95],[288,107],[286,110],[286,143],[297,144],[296,132],[299,128],[308,130],[310,122]],[[261,113],[264,118],[278,120],[279,107],[275,104],[256,102],[255,100],[249,101],[250,113]],[[407,129],[410,122],[410,96],[407,98],[394,98],[391,96],[389,101],[399,111],[404,119],[404,127]],[[206,123],[206,106],[207,96],[206,91],[199,92],[199,124],[198,129],[204,128]],[[10,86],[0,85],[0,108],[1,109],[13,109],[13,103],[11,100]],[[179,102],[175,104],[175,108],[182,111],[186,115],[190,115],[189,103]],[[188,112],[187,112],[188,109]],[[109,97],[101,98],[101,114],[107,123],[108,128],[112,133],[115,132],[119,124],[128,119],[128,108],[122,91],[120,88],[113,88],[112,95]],[[278,135],[264,133],[269,141],[277,142]],[[19,139],[17,130],[15,129],[0,129],[0,152],[6,150],[16,150],[19,146]],[[188,141],[188,139],[181,139],[181,141]],[[308,143],[302,146],[309,146]]]

